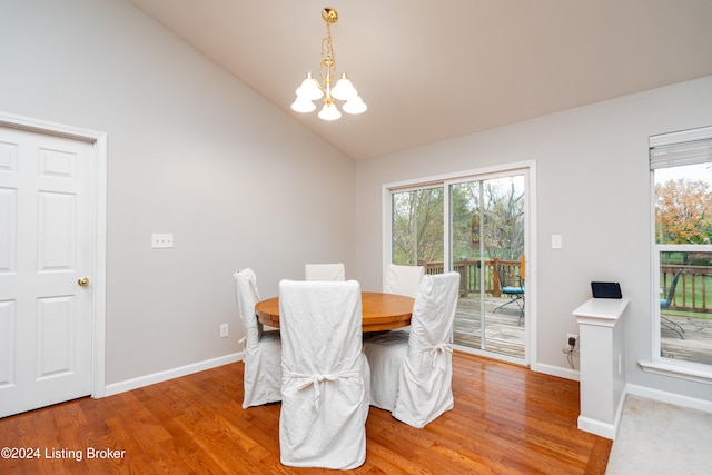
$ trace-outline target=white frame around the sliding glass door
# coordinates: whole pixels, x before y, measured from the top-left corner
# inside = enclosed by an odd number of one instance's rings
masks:
[[[492,176],[492,175],[498,175],[498,174],[506,174],[508,171],[516,171],[516,170],[526,170],[527,172],[527,181],[525,184],[525,186],[527,187],[528,191],[527,191],[527,216],[526,216],[526,236],[525,236],[525,248],[528,253],[528,256],[526,257],[526,275],[525,275],[525,279],[526,279],[526,299],[525,299],[525,315],[526,315],[526,319],[528,326],[525,330],[525,338],[526,338],[526,345],[525,345],[525,359],[528,364],[530,369],[534,370],[534,372],[538,372],[538,360],[537,360],[537,354],[538,354],[538,348],[537,348],[537,333],[538,333],[538,317],[537,317],[537,293],[538,293],[538,288],[537,288],[537,229],[536,229],[536,224],[537,224],[537,218],[536,218],[536,160],[526,160],[526,161],[521,161],[521,162],[513,162],[513,164],[503,164],[503,165],[497,165],[497,166],[492,166],[492,167],[483,167],[479,169],[473,169],[473,170],[464,170],[464,171],[456,171],[456,172],[451,172],[451,174],[444,174],[444,175],[437,175],[437,176],[431,176],[431,177],[423,177],[423,178],[415,178],[415,179],[409,179],[409,180],[404,180],[404,181],[397,181],[397,182],[389,182],[389,184],[384,184],[382,186],[382,230],[383,230],[383,236],[382,236],[382,244],[383,244],[383,274],[385,275],[385,269],[386,266],[388,265],[388,263],[392,261],[392,255],[390,255],[390,235],[392,235],[392,222],[390,222],[390,192],[394,189],[408,189],[408,188],[416,188],[416,187],[427,187],[428,185],[434,186],[434,185],[442,185],[443,187],[447,186],[447,182],[454,181],[454,180],[465,180],[467,178],[481,178],[481,177],[486,177],[486,176]],[[447,192],[445,194],[445,197],[447,196]],[[446,200],[445,200],[446,201]],[[444,258],[445,261],[447,261],[447,259],[449,259],[449,250],[447,249],[448,246],[446,246],[446,249],[444,249]],[[466,347],[459,347],[458,349],[463,349],[465,352],[467,352]],[[467,352],[467,353],[475,353],[475,350],[473,352]],[[503,358],[498,358],[497,359],[502,359],[502,360],[507,360],[506,357]]]

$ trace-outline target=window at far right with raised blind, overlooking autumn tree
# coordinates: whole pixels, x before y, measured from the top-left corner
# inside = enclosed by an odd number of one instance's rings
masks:
[[[712,128],[651,138],[656,355],[712,372]]]

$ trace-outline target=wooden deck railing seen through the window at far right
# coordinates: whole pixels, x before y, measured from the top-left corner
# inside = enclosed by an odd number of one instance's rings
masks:
[[[675,287],[671,310],[712,314],[712,268],[709,266],[660,266],[661,298],[666,298],[668,289],[678,270],[682,270]]]

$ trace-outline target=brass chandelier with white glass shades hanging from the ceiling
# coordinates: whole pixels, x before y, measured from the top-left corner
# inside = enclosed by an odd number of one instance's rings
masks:
[[[291,105],[291,110],[296,112],[312,112],[316,110],[313,102],[324,98],[324,107],[319,111],[319,119],[336,120],[342,117],[342,112],[336,107],[334,100],[345,101],[342,109],[347,113],[362,113],[366,110],[366,105],[358,96],[356,88],[346,77],[342,75],[335,86],[332,86],[336,77],[336,59],[334,57],[334,44],[332,44],[330,26],[338,20],[338,13],[333,8],[322,10],[322,18],[326,22],[326,38],[322,40],[322,60],[319,69],[322,72],[322,83],[312,77],[312,71],[301,81],[297,89],[297,99]]]

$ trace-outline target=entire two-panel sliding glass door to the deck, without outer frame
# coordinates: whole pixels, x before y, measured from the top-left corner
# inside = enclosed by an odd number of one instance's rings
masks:
[[[455,270],[461,293],[452,343],[528,364],[528,169],[389,189],[394,264]]]

